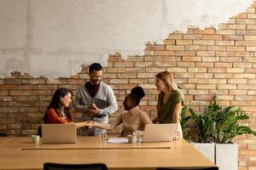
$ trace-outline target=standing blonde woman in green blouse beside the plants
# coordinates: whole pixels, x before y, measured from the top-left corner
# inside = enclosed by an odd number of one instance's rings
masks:
[[[155,86],[158,94],[157,117],[153,122],[177,123],[177,134],[174,140],[183,137],[179,122],[180,112],[183,108],[183,93],[177,88],[171,72],[163,71],[156,75]]]

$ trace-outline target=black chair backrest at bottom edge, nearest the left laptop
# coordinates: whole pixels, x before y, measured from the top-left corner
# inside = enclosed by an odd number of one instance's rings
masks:
[[[108,170],[103,163],[91,164],[61,164],[61,163],[44,163],[44,170]]]

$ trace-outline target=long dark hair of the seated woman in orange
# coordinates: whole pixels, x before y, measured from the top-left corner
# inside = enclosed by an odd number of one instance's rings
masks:
[[[71,94],[71,96],[73,96],[72,91],[67,88],[56,89],[55,94],[52,96],[51,102],[47,108],[47,111],[53,108],[58,114],[58,116],[61,116],[61,98],[64,98],[68,93]],[[47,122],[47,111],[44,114],[44,123]],[[64,108],[64,113],[66,114],[69,120],[73,120],[73,117],[70,111],[70,106],[68,106],[67,108]]]

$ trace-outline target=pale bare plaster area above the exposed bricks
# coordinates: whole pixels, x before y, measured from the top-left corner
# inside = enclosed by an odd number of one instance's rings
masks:
[[[0,76],[69,77],[108,54],[143,54],[187,26],[218,26],[253,0],[0,0]]]

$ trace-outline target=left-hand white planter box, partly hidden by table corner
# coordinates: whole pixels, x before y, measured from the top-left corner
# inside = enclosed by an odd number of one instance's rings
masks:
[[[196,150],[206,156],[212,163],[215,163],[215,144],[214,143],[191,143]]]

